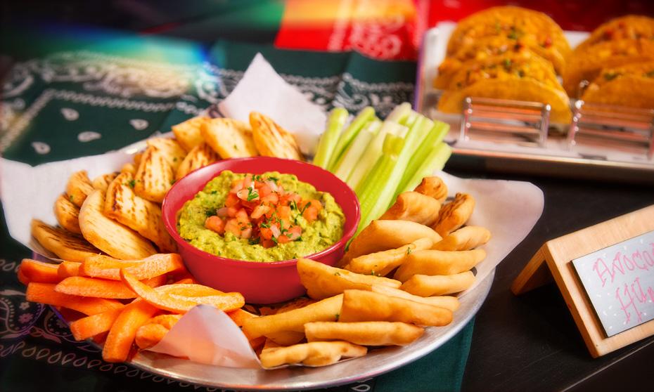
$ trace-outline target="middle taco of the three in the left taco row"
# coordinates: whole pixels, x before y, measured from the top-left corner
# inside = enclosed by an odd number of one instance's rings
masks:
[[[548,60],[558,74],[563,72],[563,66],[565,65],[563,55],[553,49],[552,46],[544,48],[539,45],[534,35],[522,36],[519,39],[508,39],[504,36],[484,37],[475,41],[475,44],[462,46],[458,51],[445,58],[438,67],[438,76],[434,79],[434,87],[445,89],[451,77],[461,67],[467,67],[470,63],[504,53],[538,55]]]

